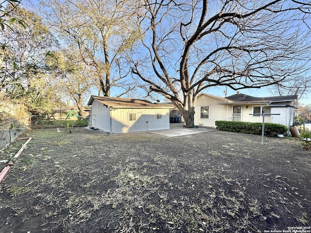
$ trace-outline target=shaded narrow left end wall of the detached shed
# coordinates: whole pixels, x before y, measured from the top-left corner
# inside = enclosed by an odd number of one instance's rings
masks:
[[[92,102],[91,126],[110,132],[110,109],[98,101]]]

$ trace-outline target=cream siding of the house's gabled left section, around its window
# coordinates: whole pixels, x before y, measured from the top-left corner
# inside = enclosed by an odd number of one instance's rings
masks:
[[[206,95],[200,95],[196,100],[194,107],[194,124],[206,127],[215,127],[216,120],[230,120],[232,117],[232,107],[229,105],[218,104],[222,100],[218,100]],[[209,119],[200,118],[201,106],[209,106]]]

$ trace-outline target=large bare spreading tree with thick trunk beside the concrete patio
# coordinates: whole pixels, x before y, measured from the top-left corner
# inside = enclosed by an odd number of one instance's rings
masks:
[[[296,0],[144,0],[138,18],[144,49],[132,73],[194,126],[203,90],[286,83],[310,68],[310,6]],[[143,9],[143,10],[142,10]]]

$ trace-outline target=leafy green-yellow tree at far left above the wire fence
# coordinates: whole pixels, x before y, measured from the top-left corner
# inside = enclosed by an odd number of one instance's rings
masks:
[[[10,15],[23,20],[26,26],[12,24],[1,32],[5,46],[0,91],[5,93],[4,99],[24,104],[33,114],[51,112],[53,77],[48,74],[46,60],[57,41],[34,12],[14,6]]]

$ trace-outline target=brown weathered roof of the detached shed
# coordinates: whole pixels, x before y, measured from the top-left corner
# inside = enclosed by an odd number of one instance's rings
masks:
[[[87,105],[96,100],[109,108],[174,108],[172,104],[152,103],[148,100],[137,100],[117,97],[91,96]]]

